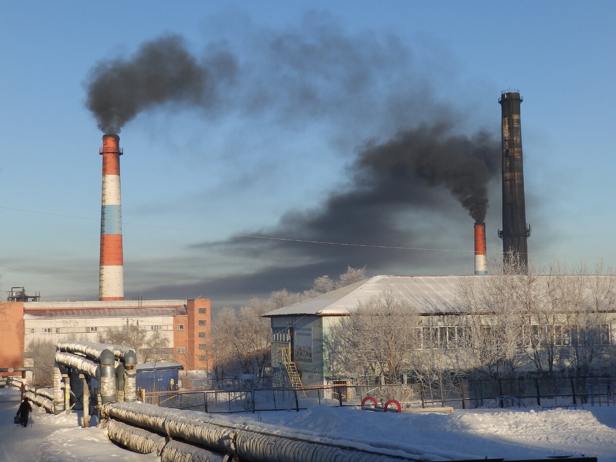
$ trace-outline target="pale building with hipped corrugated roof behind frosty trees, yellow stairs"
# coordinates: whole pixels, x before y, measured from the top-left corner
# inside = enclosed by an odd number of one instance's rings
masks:
[[[335,342],[331,330],[338,326],[342,317],[352,316],[362,304],[373,297],[391,294],[415,310],[418,323],[418,337],[439,339],[439,349],[455,349],[460,343],[457,338],[464,335],[461,326],[468,325],[464,319],[469,316],[469,307],[461,296],[461,288],[471,285],[477,294],[490,287],[493,278],[502,276],[392,276],[379,275],[338,290],[322,294],[313,299],[298,302],[264,314],[272,325],[272,368],[281,383],[292,386],[336,385],[339,371],[330,365],[330,345]],[[545,288],[549,276],[538,276],[538,287]],[[616,333],[616,286],[608,285],[610,277],[586,276],[588,286],[601,286],[605,300],[600,307],[582,307],[601,313],[601,345],[614,345]],[[602,279],[601,279],[602,278]],[[485,292],[484,292],[485,293]],[[590,295],[590,294],[587,294]],[[590,297],[589,297],[590,299]],[[474,312],[482,318],[485,328],[495,326],[493,312]],[[408,323],[400,318],[400,323]],[[538,323],[530,321],[537,325]],[[533,328],[533,325],[529,325]],[[482,327],[483,328],[483,327]],[[425,330],[425,331],[424,331]],[[426,335],[426,333],[428,333]],[[530,333],[532,334],[532,333]],[[580,334],[581,335],[581,334]],[[570,344],[564,341],[565,333],[560,331],[559,351],[566,351]],[[421,349],[431,349],[423,345]],[[531,367],[529,365],[529,367]],[[294,378],[294,375],[296,377]]]

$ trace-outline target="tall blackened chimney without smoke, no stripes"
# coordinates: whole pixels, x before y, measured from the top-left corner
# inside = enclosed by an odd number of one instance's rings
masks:
[[[530,226],[526,222],[524,205],[524,171],[522,169],[522,124],[520,105],[524,99],[520,91],[508,89],[501,92],[503,141],[503,230],[498,237],[503,239],[503,261],[507,263],[509,252],[521,269],[528,267],[527,238]]]

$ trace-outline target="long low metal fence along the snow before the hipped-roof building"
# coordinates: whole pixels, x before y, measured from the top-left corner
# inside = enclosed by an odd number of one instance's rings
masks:
[[[158,391],[144,394],[145,402],[161,407],[236,413],[301,410],[314,405],[359,407],[367,396],[386,403],[395,399],[404,408],[581,407],[614,406],[614,378],[564,377],[465,380],[441,390],[421,384],[352,385],[239,390]]]

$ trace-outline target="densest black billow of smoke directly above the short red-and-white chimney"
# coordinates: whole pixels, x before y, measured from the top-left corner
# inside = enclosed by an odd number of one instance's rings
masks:
[[[416,182],[444,187],[476,222],[484,222],[488,181],[498,172],[498,144],[487,132],[469,137],[450,128],[422,124],[384,144],[368,145],[355,162],[355,188],[371,203],[413,205]]]

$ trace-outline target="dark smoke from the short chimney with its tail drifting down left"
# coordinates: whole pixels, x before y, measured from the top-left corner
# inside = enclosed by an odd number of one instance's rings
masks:
[[[453,132],[452,124],[421,124],[399,132],[391,140],[371,142],[357,152],[351,166],[351,184],[330,193],[323,205],[312,211],[286,213],[277,227],[248,230],[247,235],[267,235],[299,240],[315,240],[367,245],[413,246],[418,237],[413,226],[402,221],[434,213],[447,215],[455,203],[443,196],[448,191],[472,216],[483,222],[487,212],[488,183],[498,172],[500,144],[487,132],[472,136]],[[436,227],[435,229],[439,229]],[[470,228],[469,228],[470,229]],[[443,233],[442,229],[439,231]],[[306,246],[288,241],[265,243],[233,238],[219,243],[253,257],[281,248],[296,254],[322,259],[346,259],[363,266],[392,259],[382,249]],[[343,260],[344,261],[344,260]]]

